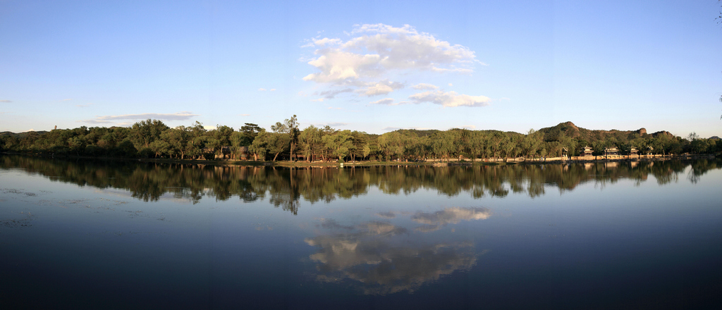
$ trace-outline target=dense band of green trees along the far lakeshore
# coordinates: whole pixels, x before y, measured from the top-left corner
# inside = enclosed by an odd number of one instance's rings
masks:
[[[245,123],[239,130],[218,125],[206,130],[196,122],[169,128],[160,120],[144,120],[131,128],[80,127],[49,132],[0,135],[0,151],[53,156],[92,156],[167,159],[253,159],[303,161],[421,161],[477,160],[578,155],[590,146],[594,155],[616,147],[640,154],[712,154],[722,151],[719,138],[687,138],[646,130],[587,130],[573,123],[529,130],[526,134],[499,130],[396,130],[375,135],[329,126],[300,130],[296,115],[265,130]]]

